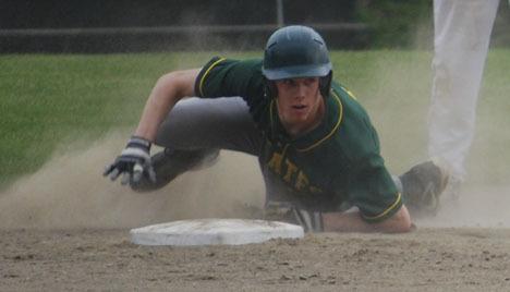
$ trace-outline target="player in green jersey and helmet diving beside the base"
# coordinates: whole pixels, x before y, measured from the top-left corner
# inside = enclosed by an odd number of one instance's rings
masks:
[[[150,157],[151,143],[165,150]],[[133,190],[151,191],[214,162],[219,149],[258,157],[268,212],[287,206],[284,218],[306,231],[406,232],[403,195],[426,193],[398,190],[366,111],[332,81],[326,44],[306,26],[276,31],[264,60],[215,57],[202,69],[161,76],[105,175],[123,174]],[[442,191],[441,173],[405,175],[404,188],[413,182],[432,184],[433,195]]]

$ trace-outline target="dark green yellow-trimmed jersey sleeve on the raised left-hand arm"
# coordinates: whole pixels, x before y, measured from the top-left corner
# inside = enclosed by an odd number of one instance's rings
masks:
[[[212,58],[198,73],[195,94],[203,98],[240,96],[250,104],[263,95],[262,60]]]

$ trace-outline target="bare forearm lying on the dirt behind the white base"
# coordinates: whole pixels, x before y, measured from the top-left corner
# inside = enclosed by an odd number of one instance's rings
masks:
[[[323,214],[326,232],[384,232],[401,233],[412,230],[411,217],[404,205],[391,217],[381,222],[368,223],[360,211]]]

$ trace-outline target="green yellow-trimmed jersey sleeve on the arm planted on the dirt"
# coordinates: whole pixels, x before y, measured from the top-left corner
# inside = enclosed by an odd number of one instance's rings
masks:
[[[379,222],[394,215],[402,206],[385,161],[379,138],[368,114],[349,93],[343,96],[344,119],[340,135],[342,153],[349,167],[347,194],[349,205],[360,209],[367,222]]]

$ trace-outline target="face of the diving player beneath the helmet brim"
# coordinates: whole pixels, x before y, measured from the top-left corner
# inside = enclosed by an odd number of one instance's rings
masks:
[[[324,114],[318,77],[276,81],[278,113],[289,134],[298,135],[314,127]]]

